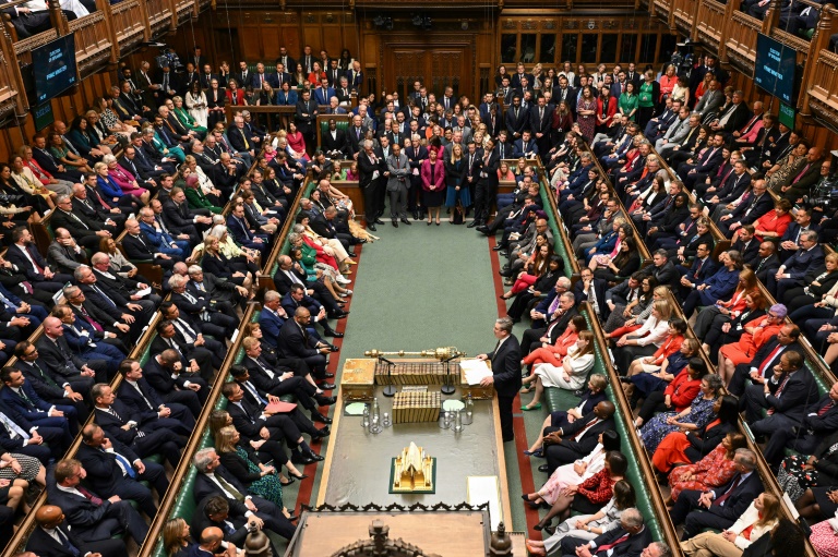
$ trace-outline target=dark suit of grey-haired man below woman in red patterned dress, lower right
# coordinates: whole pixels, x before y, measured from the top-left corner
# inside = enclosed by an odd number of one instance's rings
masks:
[[[720,498],[735,484],[730,495],[723,500]],[[714,530],[727,530],[747,509],[747,506],[763,493],[763,482],[758,472],[752,472],[744,481],[738,473],[733,479],[716,489],[710,489],[715,498],[709,509],[698,506],[698,497],[702,492],[685,489],[681,492],[675,506],[669,511],[672,523],[684,524],[684,533],[681,540],[689,540],[706,528]],[[701,510],[698,510],[701,509]]]

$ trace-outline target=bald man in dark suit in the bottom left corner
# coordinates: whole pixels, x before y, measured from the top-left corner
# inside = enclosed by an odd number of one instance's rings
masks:
[[[35,513],[35,522],[37,526],[29,534],[26,549],[39,557],[128,557],[122,540],[79,540],[64,521],[61,507],[44,505]]]

